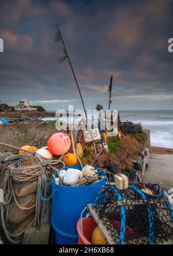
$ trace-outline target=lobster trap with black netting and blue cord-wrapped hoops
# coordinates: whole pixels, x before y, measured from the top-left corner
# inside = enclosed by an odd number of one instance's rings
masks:
[[[152,198],[134,185],[107,185],[88,210],[110,244],[160,244],[173,235],[173,211],[162,191]]]

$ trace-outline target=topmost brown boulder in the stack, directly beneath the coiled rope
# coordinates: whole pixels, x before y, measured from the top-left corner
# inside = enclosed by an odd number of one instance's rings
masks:
[[[14,193],[17,197],[26,196],[37,191],[37,180],[24,181],[21,183],[13,182]]]

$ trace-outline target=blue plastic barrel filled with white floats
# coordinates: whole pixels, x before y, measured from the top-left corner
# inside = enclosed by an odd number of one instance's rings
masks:
[[[69,166],[69,168],[82,169],[80,165]],[[67,169],[63,168],[63,170]],[[104,172],[100,172],[99,175],[106,176]],[[57,173],[54,176],[58,177]],[[55,244],[76,244],[78,242],[76,225],[81,212],[88,203],[95,201],[101,187],[106,185],[106,177],[97,183],[80,187],[57,185],[53,180],[51,184],[51,225],[55,231]],[[42,195],[41,198],[43,199]]]

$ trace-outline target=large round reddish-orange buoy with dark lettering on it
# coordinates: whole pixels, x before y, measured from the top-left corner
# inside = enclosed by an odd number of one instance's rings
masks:
[[[70,149],[71,140],[66,133],[57,132],[53,134],[47,143],[48,150],[54,155],[63,155]]]

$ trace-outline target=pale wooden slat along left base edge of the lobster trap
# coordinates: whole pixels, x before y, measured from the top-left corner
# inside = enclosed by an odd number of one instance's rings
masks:
[[[106,238],[108,244],[115,244],[114,240],[111,238],[109,232],[107,231],[106,227],[104,227],[103,223],[99,219],[98,214],[93,210],[92,204],[89,203],[87,205],[88,211],[91,213],[92,217],[95,219],[97,225],[100,228],[100,231],[103,233],[104,237]]]

